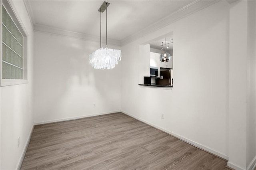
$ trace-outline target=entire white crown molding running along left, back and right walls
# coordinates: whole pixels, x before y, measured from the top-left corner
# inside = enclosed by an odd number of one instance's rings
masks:
[[[78,32],[71,32],[68,30],[62,30],[59,28],[53,28],[50,26],[45,26],[41,24],[37,24],[34,20],[34,15],[33,11],[30,5],[29,0],[23,0],[24,4],[26,6],[26,10],[28,12],[28,15],[30,17],[30,22],[32,24],[32,27],[35,32],[45,32],[49,34],[55,34],[59,36],[66,36],[66,37],[72,37],[72,38],[78,38],[82,40],[87,40],[87,41],[93,41],[93,42],[100,42],[100,37],[99,36],[92,36],[88,34],[83,34],[83,33],[78,33]],[[213,0],[213,1],[208,1],[208,0],[195,0],[188,4],[187,6],[184,6],[183,8],[173,12],[172,14],[162,18],[158,22],[155,22],[154,24],[144,28],[143,30],[140,30],[139,32],[128,36],[124,38],[121,41],[118,40],[112,40],[108,39],[108,43],[112,45],[125,45],[127,43],[130,43],[138,38],[141,38],[143,36],[146,36],[152,32],[155,32],[165,26],[168,26],[169,24],[172,24],[176,22],[177,20],[180,20],[186,16],[189,16],[191,14],[194,14],[195,12],[198,12],[208,6],[211,6],[212,4],[215,4],[216,2],[219,2],[220,0]],[[236,1],[236,0],[234,0]]]

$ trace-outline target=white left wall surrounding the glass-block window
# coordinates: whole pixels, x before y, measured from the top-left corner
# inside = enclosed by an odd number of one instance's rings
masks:
[[[11,1],[28,32],[28,84],[0,87],[1,170],[18,168],[34,125],[32,114],[32,74],[34,32],[23,1]],[[20,146],[17,147],[17,138]]]

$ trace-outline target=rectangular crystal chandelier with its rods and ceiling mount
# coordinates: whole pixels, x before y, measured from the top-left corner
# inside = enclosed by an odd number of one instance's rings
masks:
[[[100,48],[89,55],[89,63],[94,69],[113,69],[118,61],[121,61],[121,50],[108,48],[107,45],[107,14],[108,14],[108,2],[103,2],[99,8],[100,12]],[[106,47],[101,47],[101,13],[106,10]]]

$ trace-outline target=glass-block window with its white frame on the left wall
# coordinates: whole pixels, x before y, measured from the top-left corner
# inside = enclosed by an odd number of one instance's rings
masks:
[[[28,83],[27,37],[8,1],[2,2],[1,86]]]

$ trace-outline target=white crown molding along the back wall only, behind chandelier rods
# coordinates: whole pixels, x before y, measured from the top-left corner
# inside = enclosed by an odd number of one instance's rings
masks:
[[[82,39],[82,40],[86,40],[86,41],[100,43],[100,36],[92,36],[92,35],[88,35],[88,34],[67,31],[67,30],[62,30],[59,28],[53,28],[53,27],[40,25],[40,24],[35,24],[34,28],[35,28],[35,32],[44,32],[44,33],[54,34],[54,35],[58,35],[58,36],[78,38],[78,39]],[[108,39],[108,44],[120,46],[121,42],[118,40]]]

